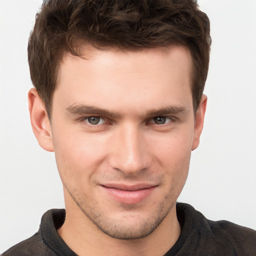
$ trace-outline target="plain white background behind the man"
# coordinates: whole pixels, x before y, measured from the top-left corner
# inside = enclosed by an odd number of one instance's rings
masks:
[[[212,49],[201,143],[179,201],[256,229],[256,0],[199,0]],[[41,0],[0,0],[0,252],[64,207],[54,154],[32,133],[26,47]]]

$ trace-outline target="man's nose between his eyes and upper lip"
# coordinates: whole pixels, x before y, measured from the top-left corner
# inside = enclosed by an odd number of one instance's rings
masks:
[[[110,151],[110,166],[121,170],[126,175],[135,175],[147,169],[151,164],[145,134],[131,123],[115,131]]]

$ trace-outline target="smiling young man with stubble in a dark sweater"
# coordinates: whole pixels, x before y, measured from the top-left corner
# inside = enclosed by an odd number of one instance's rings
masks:
[[[209,47],[194,1],[43,4],[29,110],[66,209],[3,255],[255,254],[253,230],[176,205],[203,126]]]

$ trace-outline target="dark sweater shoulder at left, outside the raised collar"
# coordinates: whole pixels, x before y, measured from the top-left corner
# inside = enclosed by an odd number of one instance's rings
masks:
[[[2,256],[53,256],[54,252],[42,241],[39,232],[17,243],[2,253]]]

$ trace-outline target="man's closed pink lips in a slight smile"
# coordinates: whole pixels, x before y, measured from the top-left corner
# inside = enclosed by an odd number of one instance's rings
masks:
[[[134,204],[144,200],[154,190],[156,185],[150,184],[102,184],[101,187],[115,201]]]

